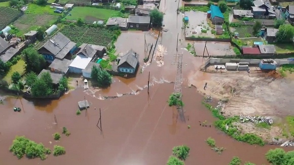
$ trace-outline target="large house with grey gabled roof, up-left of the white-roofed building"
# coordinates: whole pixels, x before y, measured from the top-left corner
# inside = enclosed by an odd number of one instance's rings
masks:
[[[50,38],[38,52],[44,56],[48,62],[54,59],[62,60],[66,56],[70,58],[71,54],[77,49],[76,43],[70,41],[61,32],[58,32],[53,38]]]

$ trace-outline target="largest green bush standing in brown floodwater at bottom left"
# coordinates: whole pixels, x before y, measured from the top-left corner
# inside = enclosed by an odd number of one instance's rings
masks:
[[[18,158],[26,154],[28,158],[40,157],[42,160],[47,158],[46,154],[51,153],[50,149],[45,148],[42,143],[37,144],[24,136],[16,137],[9,150]]]

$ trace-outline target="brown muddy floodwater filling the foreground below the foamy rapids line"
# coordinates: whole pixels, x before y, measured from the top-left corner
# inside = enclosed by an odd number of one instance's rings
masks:
[[[7,98],[0,105],[0,164],[165,164],[172,147],[182,144],[191,148],[188,165],[228,164],[233,156],[239,156],[244,162],[267,164],[264,154],[275,146],[243,144],[213,127],[199,126],[199,121],[212,123],[214,118],[201,104],[202,96],[193,87],[182,89],[187,122],[177,121],[175,108],[166,102],[172,90],[173,84],[155,84],[149,95],[143,90],[138,95],[116,99],[88,97],[91,106],[87,114],[84,110],[80,116],[76,110],[77,102],[84,98],[82,89],[49,102]],[[22,107],[22,111],[14,112],[14,106]],[[99,108],[102,134],[96,127]],[[58,125],[54,123],[54,114]],[[52,134],[61,132],[62,127],[71,135],[55,142]],[[43,161],[25,157],[18,160],[8,150],[16,135],[24,135],[51,149],[56,144],[64,146],[66,154],[49,155]],[[217,146],[226,148],[222,155],[207,146],[208,137],[214,138]]]

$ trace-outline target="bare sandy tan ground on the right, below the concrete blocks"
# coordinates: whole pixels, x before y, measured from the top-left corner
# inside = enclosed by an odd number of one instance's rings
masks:
[[[260,135],[266,141],[284,138],[283,117],[294,115],[291,104],[294,98],[294,76],[289,74],[281,77],[278,73],[274,76],[260,71],[258,67],[250,67],[250,70],[248,75],[247,71],[215,71],[214,66],[210,66],[205,73],[208,75],[193,85],[205,95],[229,99],[223,109],[226,116],[259,115],[270,116],[274,120],[271,129],[256,128],[252,123],[238,123],[244,132]]]

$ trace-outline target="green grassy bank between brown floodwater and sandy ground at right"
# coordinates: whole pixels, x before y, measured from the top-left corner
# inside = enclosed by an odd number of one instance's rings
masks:
[[[212,107],[210,104],[206,102],[202,102],[205,107],[207,107],[213,117],[218,118],[214,122],[214,126],[231,136],[232,138],[240,141],[240,142],[245,142],[248,144],[258,144],[260,146],[264,146],[265,142],[262,140],[261,137],[255,135],[255,134],[250,134],[250,133],[241,133],[234,125],[234,122],[237,122],[239,120],[239,116],[234,116],[234,117],[225,117],[219,113],[219,109]]]

